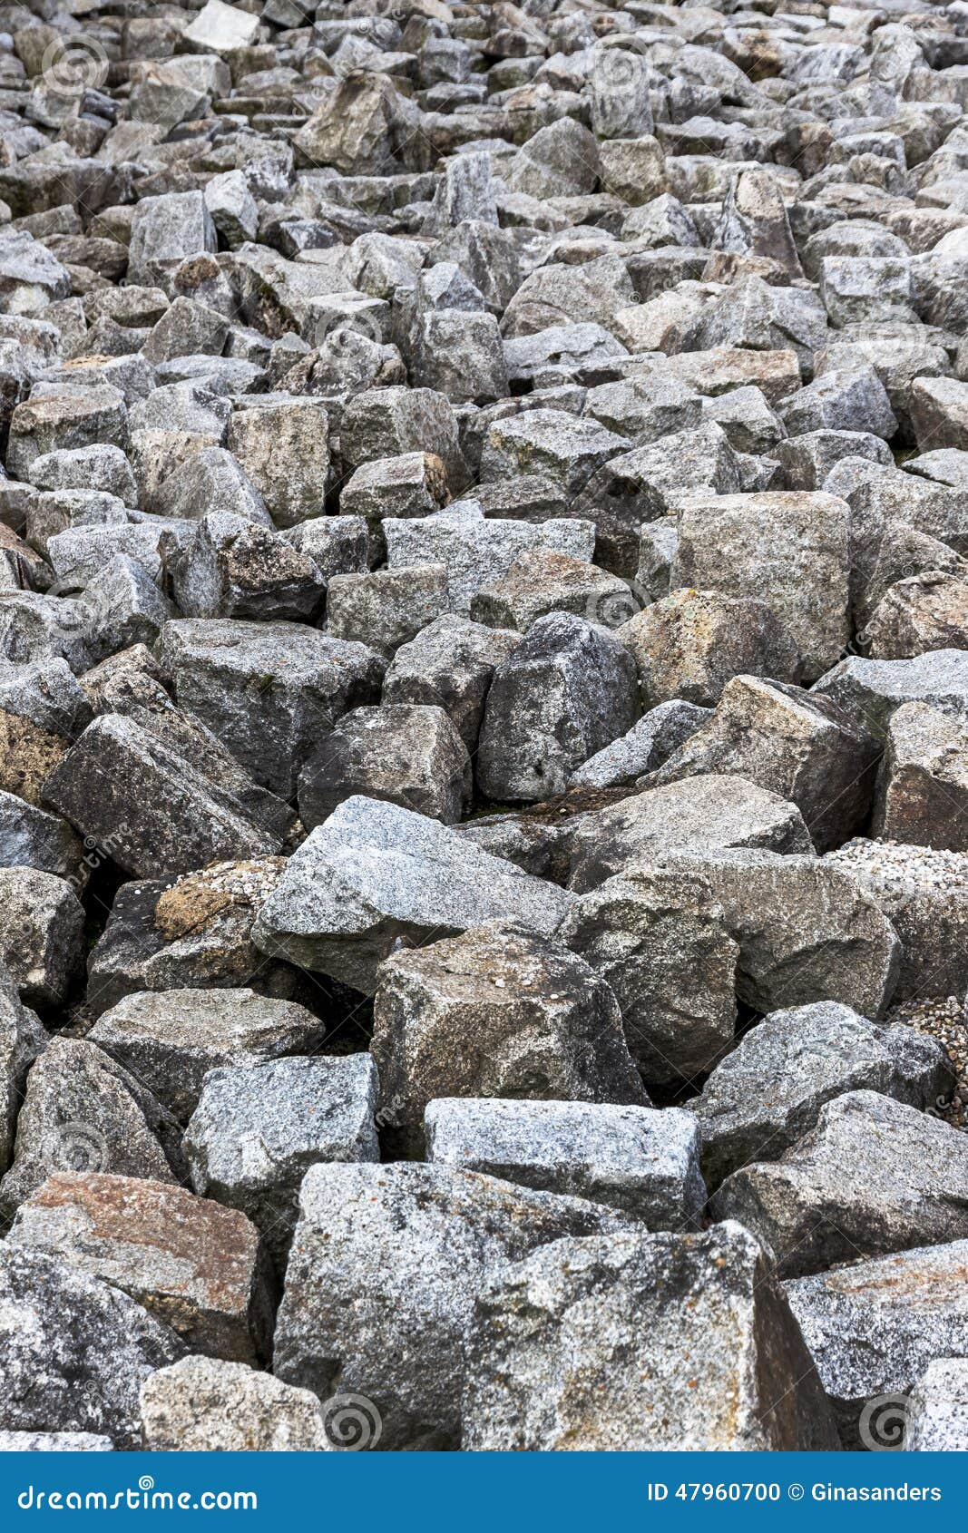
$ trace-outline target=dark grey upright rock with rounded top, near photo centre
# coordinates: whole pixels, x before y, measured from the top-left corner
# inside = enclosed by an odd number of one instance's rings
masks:
[[[497,802],[563,793],[572,771],[632,728],[635,665],[611,633],[572,613],[540,618],[497,668],[477,759]]]

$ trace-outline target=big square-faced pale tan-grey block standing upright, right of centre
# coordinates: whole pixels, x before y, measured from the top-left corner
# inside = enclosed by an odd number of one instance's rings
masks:
[[[690,498],[680,512],[673,586],[772,607],[815,681],[850,638],[848,507],[821,491]]]

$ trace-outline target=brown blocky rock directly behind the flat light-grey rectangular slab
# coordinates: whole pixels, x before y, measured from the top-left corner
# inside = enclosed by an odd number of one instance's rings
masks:
[[[646,1101],[606,981],[563,943],[502,921],[391,955],[371,1052],[380,1124],[414,1159],[439,1096]]]

